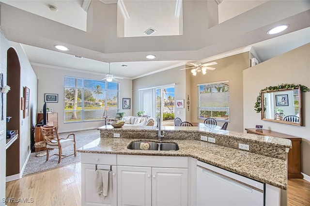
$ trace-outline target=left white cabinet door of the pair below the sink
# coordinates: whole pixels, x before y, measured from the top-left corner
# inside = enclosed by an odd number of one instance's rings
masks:
[[[118,206],[151,206],[151,167],[117,166]]]

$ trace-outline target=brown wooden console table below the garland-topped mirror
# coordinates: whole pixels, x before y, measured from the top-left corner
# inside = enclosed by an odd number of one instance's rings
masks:
[[[265,136],[273,136],[273,137],[280,137],[285,139],[290,139],[292,141],[292,148],[290,148],[288,156],[287,156],[287,173],[288,178],[303,178],[301,174],[301,167],[300,167],[300,143],[301,138],[291,136],[288,134],[283,134],[279,132],[272,132],[270,130],[255,130],[254,128],[246,128],[248,133],[252,134],[259,134]]]

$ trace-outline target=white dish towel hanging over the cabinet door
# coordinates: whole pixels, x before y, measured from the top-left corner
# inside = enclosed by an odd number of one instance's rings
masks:
[[[96,170],[95,192],[102,199],[108,196],[110,170]]]

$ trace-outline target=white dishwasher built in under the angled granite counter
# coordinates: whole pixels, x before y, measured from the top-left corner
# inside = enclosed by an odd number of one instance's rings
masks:
[[[263,205],[263,183],[197,161],[197,206]]]

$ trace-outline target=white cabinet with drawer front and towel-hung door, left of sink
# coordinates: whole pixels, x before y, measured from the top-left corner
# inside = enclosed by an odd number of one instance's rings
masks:
[[[117,166],[112,165],[112,162],[116,164],[116,155],[105,156],[102,154],[81,154],[82,206],[117,205]],[[104,199],[99,197],[95,191],[96,168],[101,170],[111,170],[109,172],[108,196]]]

